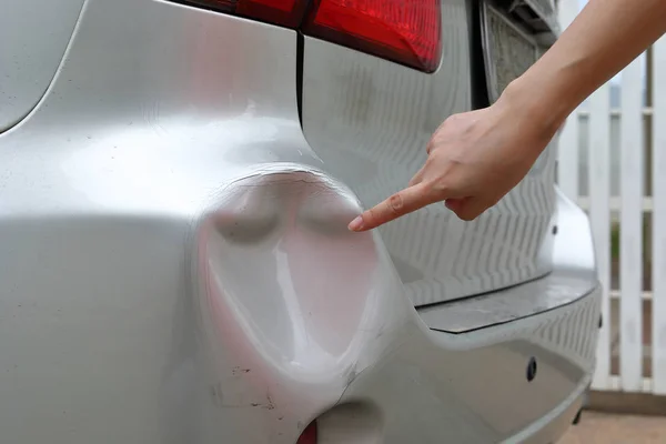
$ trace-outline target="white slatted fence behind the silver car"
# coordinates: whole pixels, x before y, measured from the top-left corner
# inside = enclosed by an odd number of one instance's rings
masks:
[[[578,9],[577,0],[559,0],[563,29]],[[652,48],[650,84],[644,56],[623,71],[619,85],[603,85],[569,117],[561,135],[558,183],[588,211],[604,286],[593,389],[666,395],[666,37]],[[612,108],[610,92],[618,88],[619,103]],[[646,107],[646,91],[652,107]],[[650,214],[652,223],[644,225]],[[614,276],[612,226],[617,224],[619,273]]]

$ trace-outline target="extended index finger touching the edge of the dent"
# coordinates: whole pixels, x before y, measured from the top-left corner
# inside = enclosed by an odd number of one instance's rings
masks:
[[[363,212],[350,223],[349,229],[351,231],[372,230],[437,200],[433,199],[432,193],[423,183],[418,183],[398,191],[385,201]]]

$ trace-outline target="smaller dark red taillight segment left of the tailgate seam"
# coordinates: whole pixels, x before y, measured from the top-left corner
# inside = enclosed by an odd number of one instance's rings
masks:
[[[307,6],[307,0],[188,0],[188,2],[287,28],[297,28]]]

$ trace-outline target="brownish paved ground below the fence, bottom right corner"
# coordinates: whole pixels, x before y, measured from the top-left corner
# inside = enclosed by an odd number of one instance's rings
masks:
[[[558,444],[664,444],[666,417],[583,412]]]

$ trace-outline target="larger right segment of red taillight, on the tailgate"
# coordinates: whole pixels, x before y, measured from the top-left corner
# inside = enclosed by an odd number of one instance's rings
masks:
[[[440,22],[440,0],[314,0],[303,31],[433,72]]]

